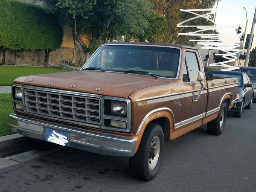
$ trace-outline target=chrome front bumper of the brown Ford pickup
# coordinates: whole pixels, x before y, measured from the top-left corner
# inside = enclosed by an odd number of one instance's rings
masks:
[[[16,133],[38,140],[46,140],[47,128],[68,133],[66,146],[97,154],[132,157],[136,139],[119,137],[95,131],[83,130],[71,126],[55,124],[37,119],[27,118],[12,113],[8,117],[8,126]]]

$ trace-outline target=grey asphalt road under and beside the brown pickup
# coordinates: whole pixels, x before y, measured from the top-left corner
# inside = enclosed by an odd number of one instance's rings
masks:
[[[166,141],[160,172],[149,182],[131,177],[128,158],[72,148],[6,157],[0,191],[256,191],[256,104],[229,114],[221,136],[195,129]]]

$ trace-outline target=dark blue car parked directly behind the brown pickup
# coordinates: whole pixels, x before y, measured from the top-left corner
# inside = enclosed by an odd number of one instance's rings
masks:
[[[243,108],[250,109],[253,103],[253,84],[246,73],[239,71],[220,71],[212,70],[213,76],[232,77],[238,79],[238,93],[233,108],[229,111],[234,112],[234,116],[241,117]]]

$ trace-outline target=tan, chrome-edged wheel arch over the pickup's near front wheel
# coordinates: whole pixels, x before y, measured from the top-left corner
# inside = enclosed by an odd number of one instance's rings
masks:
[[[169,138],[171,137],[172,128],[174,128],[174,124],[175,124],[175,119],[174,119],[173,111],[170,108],[157,108],[157,109],[154,109],[154,110],[150,111],[144,117],[144,119],[140,123],[140,126],[138,128],[137,133],[134,136],[132,136],[132,137],[136,138],[136,140],[137,140],[135,152],[139,148],[140,141],[141,141],[141,139],[143,137],[143,133],[144,133],[145,128],[147,127],[148,123],[150,123],[152,120],[158,119],[160,117],[168,118],[169,123],[170,123],[170,128],[169,128],[170,129],[169,130],[170,135],[169,135]]]

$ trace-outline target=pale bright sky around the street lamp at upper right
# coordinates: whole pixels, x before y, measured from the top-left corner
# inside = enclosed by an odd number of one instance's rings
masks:
[[[216,4],[217,3],[215,3],[215,8]],[[246,35],[250,34],[253,22],[253,15],[256,8],[256,0],[219,0],[215,19],[216,25],[229,26],[229,29],[218,29],[218,32],[220,32],[220,34],[234,34],[236,33],[236,29],[239,25],[242,27],[241,33],[244,32],[246,25],[246,13],[243,7],[245,7],[247,11],[248,18]],[[254,38],[252,49],[256,47],[256,26],[253,34]]]

